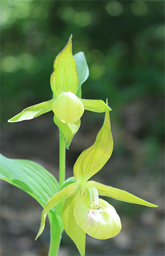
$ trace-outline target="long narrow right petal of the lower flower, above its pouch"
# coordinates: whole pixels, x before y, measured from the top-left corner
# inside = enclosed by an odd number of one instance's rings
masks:
[[[136,203],[136,204],[141,204],[148,207],[158,207],[156,204],[148,203],[147,201],[140,199],[139,197],[133,194],[130,194],[124,190],[121,190],[115,187],[106,186],[95,181],[88,181],[88,185],[96,187],[99,195],[109,196],[116,200],[127,202],[127,203]]]

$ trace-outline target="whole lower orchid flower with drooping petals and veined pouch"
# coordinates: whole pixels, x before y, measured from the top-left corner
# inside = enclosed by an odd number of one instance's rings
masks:
[[[36,239],[41,235],[45,218],[49,210],[65,200],[62,220],[66,233],[73,239],[80,254],[85,254],[86,233],[98,239],[116,236],[121,230],[120,217],[115,208],[99,195],[109,196],[120,201],[136,203],[149,207],[157,205],[148,203],[123,190],[88,181],[110,158],[113,150],[113,139],[110,127],[109,112],[106,112],[104,124],[99,131],[95,143],[84,150],[74,164],[74,177],[69,178],[61,186],[60,191],[46,203],[41,227]]]

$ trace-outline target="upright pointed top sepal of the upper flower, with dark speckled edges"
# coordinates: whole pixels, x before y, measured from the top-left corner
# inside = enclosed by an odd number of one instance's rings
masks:
[[[72,35],[69,38],[66,47],[59,53],[54,61],[54,71],[50,77],[51,89],[56,97],[62,92],[73,92],[78,90],[78,75],[76,62],[72,55]]]

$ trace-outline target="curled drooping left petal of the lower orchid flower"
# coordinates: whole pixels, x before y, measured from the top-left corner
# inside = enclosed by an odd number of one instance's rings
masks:
[[[47,213],[55,207],[58,203],[64,201],[66,198],[74,195],[78,191],[79,184],[77,182],[72,183],[70,185],[67,185],[65,188],[63,188],[61,191],[56,193],[54,196],[52,196],[49,201],[46,203],[42,216],[41,216],[41,226],[40,230],[35,238],[35,240],[41,235],[42,231],[45,227],[45,218],[47,216]]]

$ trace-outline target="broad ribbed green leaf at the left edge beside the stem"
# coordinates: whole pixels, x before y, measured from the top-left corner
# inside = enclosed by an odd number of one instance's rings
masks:
[[[41,165],[0,155],[0,178],[32,195],[43,207],[59,191],[56,178]]]

